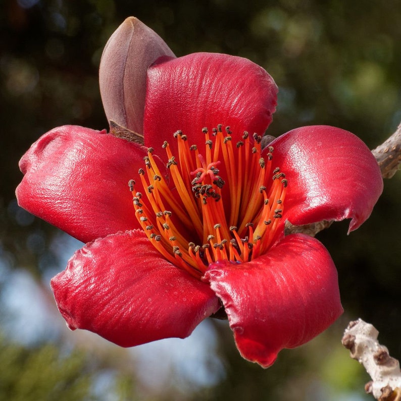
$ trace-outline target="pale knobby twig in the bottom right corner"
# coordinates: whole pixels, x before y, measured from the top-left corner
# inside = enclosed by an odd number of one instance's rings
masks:
[[[399,362],[391,358],[388,349],[377,341],[379,332],[374,326],[358,319],[349,322],[342,344],[350,357],[358,360],[372,381],[365,385],[368,394],[379,401],[401,400],[401,371]]]

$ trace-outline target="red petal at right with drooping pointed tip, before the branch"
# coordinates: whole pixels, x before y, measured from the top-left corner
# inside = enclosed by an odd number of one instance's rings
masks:
[[[275,139],[273,162],[288,179],[285,219],[302,225],[352,219],[357,229],[382,190],[379,166],[354,134],[330,126],[300,127]]]

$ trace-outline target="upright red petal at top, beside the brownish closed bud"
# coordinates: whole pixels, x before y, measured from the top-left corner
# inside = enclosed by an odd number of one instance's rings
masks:
[[[249,60],[194,53],[148,70],[144,135],[156,151],[182,130],[190,144],[205,146],[201,130],[229,125],[236,141],[244,130],[263,135],[276,109],[273,78]]]

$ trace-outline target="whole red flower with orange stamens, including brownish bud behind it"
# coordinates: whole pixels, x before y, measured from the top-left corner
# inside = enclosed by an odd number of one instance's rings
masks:
[[[226,315],[241,355],[268,367],[337,319],[330,255],[284,223],[369,217],[383,183],[359,138],[310,126],[265,145],[264,69],[175,58],[135,18],[109,39],[100,87],[111,133],[55,128],[20,162],[19,204],[87,242],[51,283],[68,327],[127,347]]]

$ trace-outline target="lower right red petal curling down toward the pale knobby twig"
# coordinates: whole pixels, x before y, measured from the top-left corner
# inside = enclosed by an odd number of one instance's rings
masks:
[[[241,355],[267,368],[342,313],[337,271],[315,238],[293,234],[260,258],[215,263],[205,279],[223,302]]]

